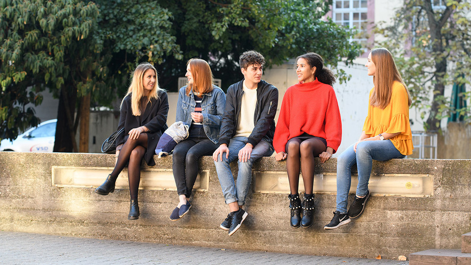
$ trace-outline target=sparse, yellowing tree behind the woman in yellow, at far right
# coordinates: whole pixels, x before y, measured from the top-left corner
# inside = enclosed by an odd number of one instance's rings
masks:
[[[424,122],[427,131],[439,130],[440,120],[450,112],[470,113],[469,107],[449,107],[444,96],[446,85],[470,83],[470,2],[434,3],[437,1],[405,0],[396,10],[393,24],[380,29],[388,38],[383,45],[391,49],[403,70],[413,104],[422,110],[422,118],[428,114]],[[461,96],[469,98],[471,94],[467,94]]]

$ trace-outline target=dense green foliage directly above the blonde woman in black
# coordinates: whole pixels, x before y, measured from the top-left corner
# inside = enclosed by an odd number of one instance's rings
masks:
[[[109,96],[119,98],[127,91],[130,73],[140,62],[161,64],[165,56],[183,58],[176,37],[170,33],[172,13],[157,1],[95,2],[100,9],[95,38],[109,68],[105,81]],[[110,103],[107,97],[94,100],[98,105]]]

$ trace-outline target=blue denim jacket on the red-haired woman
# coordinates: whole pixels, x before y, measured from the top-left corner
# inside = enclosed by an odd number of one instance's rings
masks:
[[[226,104],[226,94],[221,88],[213,85],[213,90],[203,94],[201,101],[201,114],[203,114],[203,129],[209,140],[218,143],[219,130],[221,128],[222,116],[224,115],[224,106]],[[195,111],[195,98],[193,90],[190,95],[186,95],[186,85],[180,88],[178,92],[177,117],[175,121],[183,121],[191,124],[191,112]]]

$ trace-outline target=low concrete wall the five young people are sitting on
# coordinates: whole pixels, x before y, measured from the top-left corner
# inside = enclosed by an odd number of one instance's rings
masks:
[[[219,229],[228,207],[209,157],[201,161],[201,170],[206,172],[205,181],[200,182],[206,183],[200,189],[203,191],[194,192],[193,208],[177,222],[169,220],[177,193],[148,182],[171,176],[171,158],[158,160],[153,168],[143,168],[141,216],[135,221],[127,220],[128,189],[117,189],[108,196],[93,192],[96,180],[101,183],[113,167],[112,155],[0,152],[0,165],[0,229],[4,231],[396,259],[425,249],[459,248],[461,235],[471,230],[471,160],[375,162],[375,184],[370,184],[372,197],[363,215],[339,229],[325,231],[323,226],[332,218],[336,196],[317,182],[335,180],[336,159],[316,165],[314,225],[292,229],[288,192],[276,191],[273,185],[265,190],[254,188],[273,174],[278,176],[278,184],[284,182],[286,187],[285,162],[264,158],[254,165],[256,174],[245,208],[249,215],[232,237]],[[62,174],[60,181],[53,180],[57,168],[72,171]],[[101,180],[93,174],[74,173],[84,169],[102,172]],[[64,184],[67,177],[75,185]],[[416,183],[419,180],[430,182],[431,188]],[[387,186],[386,190],[395,191],[385,192]],[[414,191],[407,194],[408,189]]]

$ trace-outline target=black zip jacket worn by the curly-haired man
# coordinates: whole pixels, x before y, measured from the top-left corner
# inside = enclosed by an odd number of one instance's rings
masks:
[[[237,120],[240,113],[240,105],[243,95],[243,81],[232,84],[227,89],[226,106],[219,132],[219,144],[229,145],[229,141],[235,135]],[[273,146],[275,134],[275,114],[278,107],[278,89],[264,80],[257,87],[257,106],[255,107],[255,128],[249,135],[247,142],[256,146],[261,140],[265,140]]]

